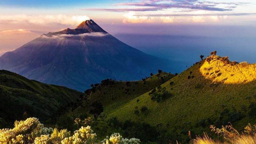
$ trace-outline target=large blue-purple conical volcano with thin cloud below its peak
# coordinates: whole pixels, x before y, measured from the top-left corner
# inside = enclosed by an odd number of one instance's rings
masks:
[[[159,68],[172,69],[168,61],[124,44],[93,20],[43,34],[0,57],[0,69],[79,91],[106,78],[138,80]]]

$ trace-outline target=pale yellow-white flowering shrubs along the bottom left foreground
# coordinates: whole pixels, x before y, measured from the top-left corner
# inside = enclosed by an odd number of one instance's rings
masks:
[[[13,129],[0,130],[1,144],[139,144],[139,139],[124,139],[119,133],[100,141],[90,126],[71,134],[67,129],[46,128],[35,117],[15,121]]]

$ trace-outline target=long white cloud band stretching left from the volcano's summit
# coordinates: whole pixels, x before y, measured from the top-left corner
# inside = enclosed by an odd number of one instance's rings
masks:
[[[28,22],[32,24],[45,25],[50,23],[58,23],[64,25],[78,25],[85,20],[90,20],[86,15],[0,15],[0,22],[10,22],[19,24]]]

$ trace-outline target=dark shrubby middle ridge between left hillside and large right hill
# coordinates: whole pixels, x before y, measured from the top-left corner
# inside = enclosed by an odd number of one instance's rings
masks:
[[[87,116],[97,117],[102,111],[104,115],[100,115],[98,119],[104,120],[104,117],[106,117],[106,115],[113,109],[116,109],[134,98],[139,97],[143,93],[160,86],[174,76],[175,75],[170,73],[162,72],[140,81],[125,82],[110,79],[103,80],[101,84],[94,84],[92,89],[86,90],[84,97],[80,99],[78,103],[61,108],[58,114],[54,115],[54,117],[49,120],[49,123],[57,123],[59,128],[73,130],[76,129],[76,127],[73,127],[76,118],[79,117],[83,120]],[[106,126],[106,121],[98,121],[97,124],[92,125],[92,127],[103,127],[103,125]],[[94,127],[94,129],[95,132],[99,132],[97,131],[97,128]],[[109,130],[109,127],[107,129]],[[110,127],[110,129],[112,128]],[[110,132],[113,131],[110,130]],[[106,133],[101,131],[98,135],[105,137]]]

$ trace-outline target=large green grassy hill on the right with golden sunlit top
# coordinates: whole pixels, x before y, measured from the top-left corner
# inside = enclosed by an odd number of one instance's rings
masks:
[[[110,111],[108,117],[146,122],[188,135],[229,121],[237,128],[255,123],[256,64],[212,56],[188,68],[156,89]],[[151,100],[167,93],[159,103]],[[150,94],[149,94],[150,93]],[[139,99],[139,101],[137,101]],[[136,113],[143,106],[146,112]]]

